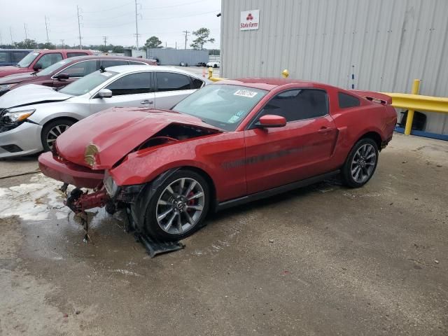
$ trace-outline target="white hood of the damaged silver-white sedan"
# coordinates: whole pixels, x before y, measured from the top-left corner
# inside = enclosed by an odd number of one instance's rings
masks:
[[[23,85],[10,92],[6,92],[6,94],[0,97],[0,109],[9,109],[15,106],[26,106],[43,102],[61,102],[70,97],[73,96],[57,92],[52,87],[35,84]]]

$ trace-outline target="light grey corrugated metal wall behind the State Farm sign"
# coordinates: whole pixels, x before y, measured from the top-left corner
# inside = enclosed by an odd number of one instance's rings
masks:
[[[260,9],[258,30],[240,12]],[[317,80],[359,90],[448,97],[448,0],[223,0],[221,73]],[[426,131],[448,134],[428,113]]]

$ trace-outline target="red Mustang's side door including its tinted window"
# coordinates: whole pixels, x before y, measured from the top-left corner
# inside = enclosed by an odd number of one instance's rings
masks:
[[[286,126],[257,127],[267,114],[285,117]],[[315,89],[276,94],[244,133],[248,194],[325,173],[337,137],[327,93]]]

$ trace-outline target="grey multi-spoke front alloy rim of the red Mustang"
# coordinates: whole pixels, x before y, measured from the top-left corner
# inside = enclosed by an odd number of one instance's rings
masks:
[[[177,179],[162,191],[155,216],[162,230],[180,235],[191,230],[204,210],[204,189],[191,178]]]

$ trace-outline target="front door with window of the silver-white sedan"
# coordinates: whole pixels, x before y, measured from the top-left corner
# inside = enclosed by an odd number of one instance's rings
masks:
[[[128,73],[121,76],[104,87],[112,91],[112,97],[94,96],[90,99],[90,111],[95,113],[114,106],[153,108],[154,90],[151,83],[151,71]]]

